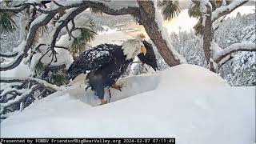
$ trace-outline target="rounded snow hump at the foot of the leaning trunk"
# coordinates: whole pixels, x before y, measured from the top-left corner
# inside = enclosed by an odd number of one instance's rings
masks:
[[[230,86],[219,74],[201,66],[182,64],[162,71],[158,89],[207,89]]]

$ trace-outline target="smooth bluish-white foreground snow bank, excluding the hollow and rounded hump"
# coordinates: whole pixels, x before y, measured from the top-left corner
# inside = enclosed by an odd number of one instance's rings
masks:
[[[153,90],[97,107],[69,94],[52,95],[2,122],[1,137],[175,137],[181,144],[253,143],[254,101],[254,88],[246,87]]]

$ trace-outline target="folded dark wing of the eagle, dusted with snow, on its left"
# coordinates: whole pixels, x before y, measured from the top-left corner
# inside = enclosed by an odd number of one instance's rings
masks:
[[[74,79],[79,74],[96,71],[101,66],[106,65],[113,58],[111,50],[113,47],[102,44],[94,47],[94,49],[84,51],[67,70],[69,78]]]

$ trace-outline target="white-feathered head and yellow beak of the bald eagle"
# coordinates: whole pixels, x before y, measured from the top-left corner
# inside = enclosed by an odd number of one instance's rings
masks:
[[[145,35],[138,34],[134,39],[128,39],[122,43],[123,53],[126,55],[126,59],[134,59],[138,54],[146,54],[146,47],[143,45]]]

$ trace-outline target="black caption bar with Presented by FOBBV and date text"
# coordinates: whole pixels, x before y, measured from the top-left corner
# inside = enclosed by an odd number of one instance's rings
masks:
[[[175,138],[0,138],[4,143],[171,143]]]

